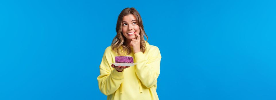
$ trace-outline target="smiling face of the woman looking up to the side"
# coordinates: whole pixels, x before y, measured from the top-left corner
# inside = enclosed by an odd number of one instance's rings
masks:
[[[138,34],[140,33],[136,17],[133,14],[129,14],[123,17],[122,32],[123,36],[128,39],[127,41],[132,41],[132,39],[136,38],[134,32]]]

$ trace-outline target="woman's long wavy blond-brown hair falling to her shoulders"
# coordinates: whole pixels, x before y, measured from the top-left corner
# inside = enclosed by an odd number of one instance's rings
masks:
[[[121,13],[119,14],[118,20],[117,20],[117,25],[116,25],[116,32],[117,35],[113,38],[112,43],[111,43],[111,48],[113,51],[115,51],[118,55],[123,56],[123,55],[129,55],[132,51],[129,45],[125,44],[126,38],[123,36],[122,33],[122,22],[123,22],[123,17],[129,14],[133,14],[136,17],[137,24],[140,29],[140,50],[141,52],[145,53],[146,52],[146,42],[148,41],[148,36],[146,35],[144,31],[144,26],[142,23],[142,18],[138,11],[135,8],[125,8]],[[145,41],[144,36],[147,38]]]

